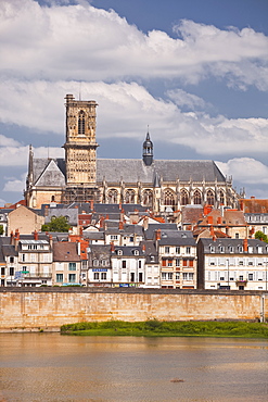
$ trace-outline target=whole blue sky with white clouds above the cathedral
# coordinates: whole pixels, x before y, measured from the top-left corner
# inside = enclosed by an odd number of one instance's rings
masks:
[[[268,198],[267,0],[1,0],[0,202],[27,149],[63,156],[64,97],[99,103],[100,158],[212,159]]]

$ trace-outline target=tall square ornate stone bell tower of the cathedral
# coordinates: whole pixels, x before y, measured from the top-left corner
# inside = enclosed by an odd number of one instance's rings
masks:
[[[95,183],[95,101],[75,100],[66,95],[66,191],[65,202],[98,202]]]

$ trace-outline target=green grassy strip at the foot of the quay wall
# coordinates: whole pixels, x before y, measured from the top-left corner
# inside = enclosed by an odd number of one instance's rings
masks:
[[[63,325],[62,335],[132,337],[239,337],[268,338],[268,324],[244,322],[109,321]]]

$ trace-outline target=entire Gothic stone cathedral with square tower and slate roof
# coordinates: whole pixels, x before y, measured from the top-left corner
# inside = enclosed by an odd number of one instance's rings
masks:
[[[36,159],[29,147],[27,206],[48,203],[132,203],[154,213],[183,205],[237,208],[239,194],[214,161],[154,160],[146,134],[142,158],[98,159],[95,101],[66,95],[65,159]]]

